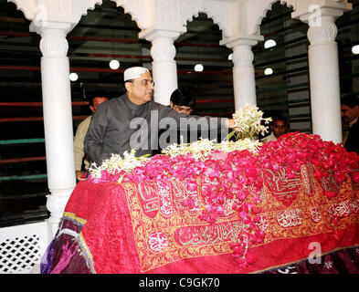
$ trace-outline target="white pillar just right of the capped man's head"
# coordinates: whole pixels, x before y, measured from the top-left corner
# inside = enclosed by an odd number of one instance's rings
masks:
[[[142,35],[152,42],[154,101],[165,106],[170,105],[172,92],[178,88],[177,65],[174,61],[174,39],[180,32],[155,29]]]

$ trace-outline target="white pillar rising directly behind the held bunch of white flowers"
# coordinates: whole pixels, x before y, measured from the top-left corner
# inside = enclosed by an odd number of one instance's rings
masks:
[[[237,38],[235,40],[223,40],[221,45],[226,45],[233,50],[233,89],[235,96],[235,110],[244,108],[247,104],[257,106],[256,76],[253,66],[254,55],[252,47],[257,45],[259,36],[252,38]],[[260,37],[259,37],[260,38]]]

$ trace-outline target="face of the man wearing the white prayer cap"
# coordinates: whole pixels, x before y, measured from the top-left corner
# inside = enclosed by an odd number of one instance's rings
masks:
[[[135,104],[143,104],[152,100],[153,79],[150,73],[145,72],[141,78],[132,79],[126,83],[129,98]]]

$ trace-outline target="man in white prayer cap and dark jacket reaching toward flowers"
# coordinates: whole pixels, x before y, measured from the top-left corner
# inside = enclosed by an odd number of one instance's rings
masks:
[[[155,153],[161,144],[158,130],[168,125],[177,129],[198,129],[200,126],[203,130],[221,132],[224,128],[234,127],[233,120],[190,116],[154,102],[153,78],[147,68],[128,68],[123,80],[126,93],[101,105],[93,115],[85,137],[85,151],[90,161],[97,165],[110,158],[112,153],[122,155],[132,149],[136,156]],[[177,142],[177,137],[170,139]]]

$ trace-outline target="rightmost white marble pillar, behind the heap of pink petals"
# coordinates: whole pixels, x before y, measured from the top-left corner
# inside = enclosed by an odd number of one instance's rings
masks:
[[[309,22],[308,50],[311,82],[311,120],[313,134],[324,141],[339,143],[342,138],[337,27],[333,16]]]

